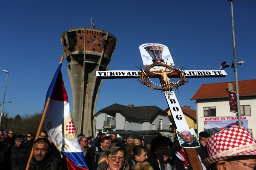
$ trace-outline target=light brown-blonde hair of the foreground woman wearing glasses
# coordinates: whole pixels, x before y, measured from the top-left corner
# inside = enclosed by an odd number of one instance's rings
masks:
[[[118,151],[121,151],[124,153],[124,163],[123,163],[123,167],[121,168],[121,170],[124,170],[126,168],[126,166],[128,165],[127,162],[126,162],[126,159],[125,159],[125,148],[122,144],[120,143],[112,143],[111,145],[109,145],[109,147],[107,149],[104,149],[103,152],[99,153],[100,154],[100,158],[99,158],[99,162],[98,164],[100,163],[103,163],[103,162],[106,162],[106,159],[105,157],[108,156],[108,155],[116,155]]]

